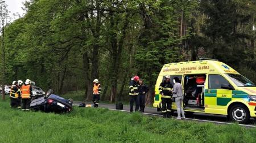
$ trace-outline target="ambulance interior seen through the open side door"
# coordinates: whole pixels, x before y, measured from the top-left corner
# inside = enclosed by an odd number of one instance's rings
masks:
[[[191,109],[204,109],[204,87],[206,75],[185,75],[184,107]]]

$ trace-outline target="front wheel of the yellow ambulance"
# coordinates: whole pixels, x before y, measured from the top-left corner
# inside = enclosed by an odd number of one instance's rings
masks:
[[[247,123],[250,119],[250,112],[244,105],[234,105],[229,110],[229,118],[240,124]]]

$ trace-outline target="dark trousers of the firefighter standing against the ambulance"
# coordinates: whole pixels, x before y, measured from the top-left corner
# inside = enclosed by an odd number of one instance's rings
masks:
[[[171,118],[172,111],[172,99],[171,98],[161,98],[162,100],[162,113],[164,118]]]

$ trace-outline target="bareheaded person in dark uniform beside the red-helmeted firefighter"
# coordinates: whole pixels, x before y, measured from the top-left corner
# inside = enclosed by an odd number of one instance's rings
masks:
[[[145,108],[145,96],[146,93],[148,92],[149,88],[147,87],[147,85],[145,85],[143,83],[142,79],[139,79],[139,85],[138,85],[138,98],[139,98],[139,108],[140,108],[140,112],[144,112],[144,108]]]

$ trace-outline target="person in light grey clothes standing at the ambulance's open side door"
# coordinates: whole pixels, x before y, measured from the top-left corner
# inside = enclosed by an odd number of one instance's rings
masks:
[[[174,89],[172,90],[174,95],[172,98],[175,98],[175,103],[177,107],[177,120],[180,120],[180,113],[182,114],[182,119],[185,119],[185,114],[183,111],[183,93],[182,93],[182,86],[180,84],[179,77],[174,77]]]

